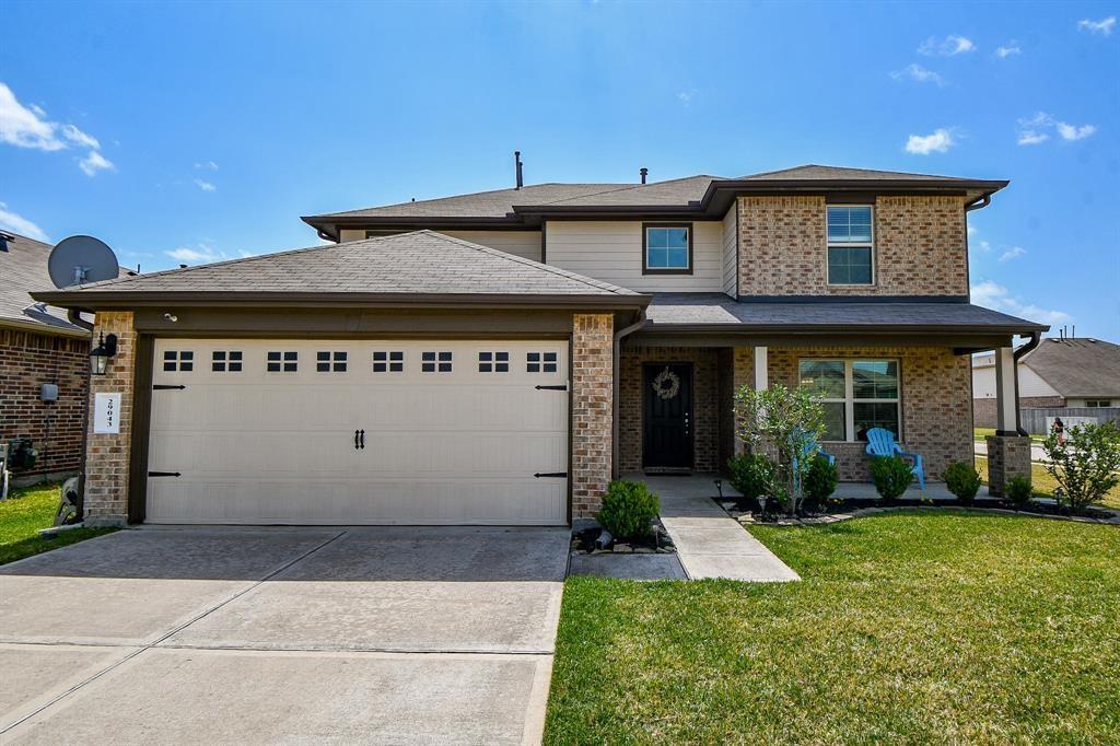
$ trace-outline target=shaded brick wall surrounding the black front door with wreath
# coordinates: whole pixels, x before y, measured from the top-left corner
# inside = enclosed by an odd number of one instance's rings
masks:
[[[644,363],[692,363],[693,463],[698,472],[718,472],[719,355],[712,347],[624,347],[618,386],[619,470],[642,469],[645,381]]]

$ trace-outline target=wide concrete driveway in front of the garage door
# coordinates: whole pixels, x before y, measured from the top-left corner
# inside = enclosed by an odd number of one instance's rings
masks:
[[[143,529],[0,568],[2,743],[535,743],[567,529]]]

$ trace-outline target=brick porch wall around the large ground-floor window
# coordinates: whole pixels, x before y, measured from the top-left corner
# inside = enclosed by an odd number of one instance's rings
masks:
[[[968,355],[942,347],[771,347],[769,381],[796,386],[802,357],[874,357],[900,362],[903,446],[922,454],[925,475],[939,479],[952,461],[972,461],[972,370]],[[870,478],[865,444],[829,442],[840,479]]]

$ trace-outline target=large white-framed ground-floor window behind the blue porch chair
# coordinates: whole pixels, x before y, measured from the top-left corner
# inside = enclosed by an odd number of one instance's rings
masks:
[[[867,440],[885,428],[902,440],[902,389],[897,360],[806,358],[797,364],[802,386],[824,405],[825,440]]]

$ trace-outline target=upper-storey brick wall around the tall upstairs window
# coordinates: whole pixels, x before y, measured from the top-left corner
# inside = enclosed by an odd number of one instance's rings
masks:
[[[878,197],[875,285],[828,285],[822,196],[739,197],[744,296],[967,296],[964,198]]]

